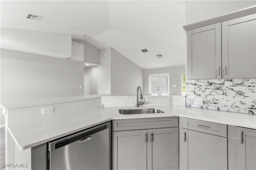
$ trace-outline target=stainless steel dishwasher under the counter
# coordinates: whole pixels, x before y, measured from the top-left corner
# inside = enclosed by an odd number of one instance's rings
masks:
[[[110,170],[111,123],[48,143],[49,170]]]

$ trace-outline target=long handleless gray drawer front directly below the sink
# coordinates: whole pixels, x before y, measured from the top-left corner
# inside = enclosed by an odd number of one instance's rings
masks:
[[[178,127],[178,117],[120,119],[112,121],[112,131]]]

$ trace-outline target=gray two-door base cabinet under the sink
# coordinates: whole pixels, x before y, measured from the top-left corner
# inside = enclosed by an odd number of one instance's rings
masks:
[[[153,120],[154,119],[148,121],[146,126],[150,123],[156,126],[157,121],[154,122]],[[162,120],[166,121],[164,119]],[[131,121],[128,122],[128,124],[131,123],[134,125]],[[161,121],[159,121],[159,123],[161,124]],[[115,123],[113,123],[113,125],[114,124]],[[162,125],[159,126],[161,127]],[[136,126],[136,124],[134,126]],[[143,126],[141,128],[143,128]],[[178,127],[113,131],[112,169],[178,170],[178,149]]]

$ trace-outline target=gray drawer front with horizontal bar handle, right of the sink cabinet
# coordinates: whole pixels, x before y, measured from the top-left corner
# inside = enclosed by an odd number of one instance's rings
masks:
[[[203,121],[198,119],[183,119],[183,124],[187,125],[187,129],[208,133],[212,135],[227,137],[227,125],[221,123],[214,123],[210,121]]]

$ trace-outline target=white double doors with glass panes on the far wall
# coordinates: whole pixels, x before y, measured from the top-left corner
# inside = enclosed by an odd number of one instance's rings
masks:
[[[148,93],[149,94],[169,94],[170,93],[170,74],[149,74]]]

